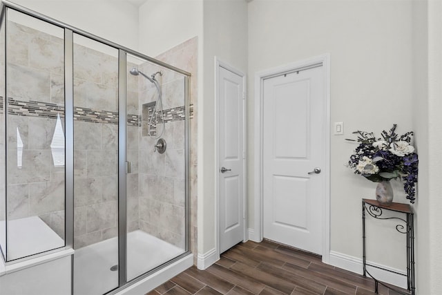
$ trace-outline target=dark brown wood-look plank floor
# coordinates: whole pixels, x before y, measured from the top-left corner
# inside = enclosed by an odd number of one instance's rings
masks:
[[[369,295],[374,294],[374,282],[265,240],[240,243],[208,269],[191,267],[146,295],[159,294]],[[379,285],[379,294],[398,293]]]

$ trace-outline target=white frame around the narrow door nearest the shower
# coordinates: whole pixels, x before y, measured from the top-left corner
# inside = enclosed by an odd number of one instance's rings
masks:
[[[215,56],[215,256],[217,259],[220,258],[220,97],[219,97],[219,77],[220,77],[220,67],[225,68],[226,70],[235,73],[236,75],[242,77],[242,83],[244,87],[243,99],[242,99],[242,136],[243,136],[243,190],[242,190],[242,204],[243,204],[243,213],[242,217],[244,218],[244,235],[243,241],[247,241],[247,111],[246,111],[246,97],[247,97],[247,78],[244,73],[242,73],[237,68],[227,64],[227,62],[220,60]]]

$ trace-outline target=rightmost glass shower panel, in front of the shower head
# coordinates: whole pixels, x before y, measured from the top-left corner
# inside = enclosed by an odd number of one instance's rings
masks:
[[[127,55],[127,279],[186,251],[185,78]]]

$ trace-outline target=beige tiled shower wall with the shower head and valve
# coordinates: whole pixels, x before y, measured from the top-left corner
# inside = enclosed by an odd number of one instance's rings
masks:
[[[184,77],[171,70],[153,64],[140,66],[146,75],[161,70],[157,75],[162,84],[162,104],[164,109],[164,133],[166,151],[155,151],[157,140],[147,136],[140,128],[138,137],[138,173],[140,183],[140,229],[166,242],[183,248],[185,246],[185,130],[184,130]],[[144,77],[138,78],[142,122],[148,122],[142,112],[144,104],[157,101],[157,89]],[[159,102],[157,102],[159,104]],[[153,134],[160,135],[162,121],[157,122]],[[134,135],[134,136],[136,136]]]

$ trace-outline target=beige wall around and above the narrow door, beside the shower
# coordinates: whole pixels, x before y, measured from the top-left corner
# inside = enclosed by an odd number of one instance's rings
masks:
[[[198,253],[215,247],[215,56],[221,61],[247,73],[247,3],[242,0],[204,2],[204,93],[202,95],[201,140],[204,144],[200,157],[204,184],[198,200]],[[200,121],[201,122],[201,121]],[[201,212],[200,212],[201,210]]]

